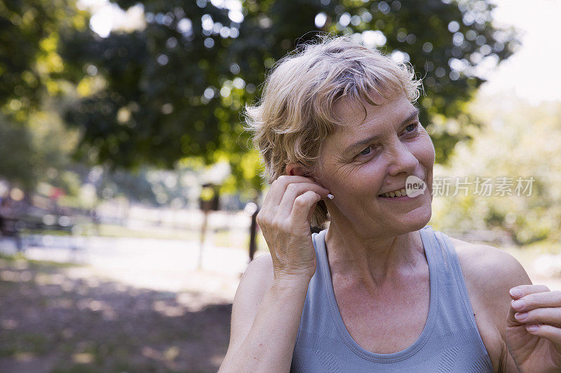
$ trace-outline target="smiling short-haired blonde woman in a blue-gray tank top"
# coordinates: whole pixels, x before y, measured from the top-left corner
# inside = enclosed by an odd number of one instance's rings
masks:
[[[221,372],[561,370],[561,293],[426,225],[435,153],[412,104],[420,84],[346,37],[269,76],[247,111],[272,181],[258,216],[271,255],[241,279]]]

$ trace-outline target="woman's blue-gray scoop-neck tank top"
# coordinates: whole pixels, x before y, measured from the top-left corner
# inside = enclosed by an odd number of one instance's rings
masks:
[[[326,232],[312,235],[318,265],[306,294],[290,372],[493,372],[449,237],[431,225],[420,230],[431,282],[428,318],[411,346],[382,354],[363,349],[346,330],[325,254]]]

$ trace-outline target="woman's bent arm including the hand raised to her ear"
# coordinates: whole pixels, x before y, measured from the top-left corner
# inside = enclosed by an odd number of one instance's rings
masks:
[[[280,176],[271,185],[257,215],[271,255],[252,262],[241,280],[220,372],[290,370],[306,292],[316,272],[311,214],[327,193],[303,176]]]

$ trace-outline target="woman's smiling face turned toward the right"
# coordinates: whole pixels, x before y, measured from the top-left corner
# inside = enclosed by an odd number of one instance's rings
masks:
[[[344,125],[325,139],[316,181],[335,196],[327,203],[332,224],[364,234],[419,230],[431,218],[433,143],[404,95],[372,98],[379,106],[363,101],[366,118],[360,104],[337,102],[334,112]],[[407,176],[423,180],[426,190],[416,197],[384,197],[405,188]]]

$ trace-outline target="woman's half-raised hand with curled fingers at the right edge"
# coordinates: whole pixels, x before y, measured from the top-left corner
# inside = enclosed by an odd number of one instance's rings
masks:
[[[561,372],[561,292],[544,285],[511,289],[506,345],[520,372]]]

